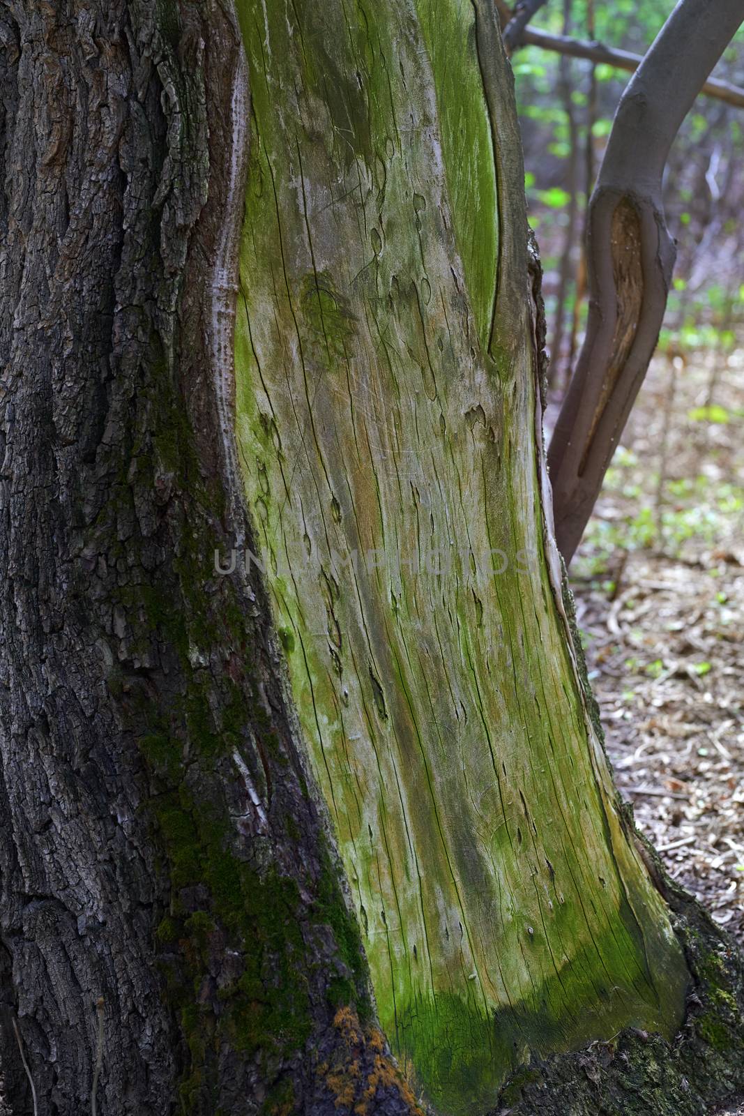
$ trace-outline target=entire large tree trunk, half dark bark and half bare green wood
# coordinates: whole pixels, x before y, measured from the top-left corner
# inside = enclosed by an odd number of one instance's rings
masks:
[[[712,947],[581,681],[491,4],[0,31],[6,1106],[475,1113],[671,1038]]]

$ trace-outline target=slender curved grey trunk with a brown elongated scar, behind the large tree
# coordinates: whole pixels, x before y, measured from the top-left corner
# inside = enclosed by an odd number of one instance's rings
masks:
[[[625,90],[591,198],[589,317],[550,444],[555,535],[570,562],[654,354],[675,243],[664,218],[669,148],[742,22],[738,0],[680,0]]]

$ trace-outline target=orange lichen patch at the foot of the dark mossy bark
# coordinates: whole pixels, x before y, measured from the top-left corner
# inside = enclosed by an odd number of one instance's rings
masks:
[[[363,1028],[356,1011],[339,1008],[334,1017],[339,1041],[316,1072],[334,1097],[339,1112],[370,1116],[379,1090],[397,1093],[412,1116],[421,1116],[414,1094],[392,1057],[378,1027]]]

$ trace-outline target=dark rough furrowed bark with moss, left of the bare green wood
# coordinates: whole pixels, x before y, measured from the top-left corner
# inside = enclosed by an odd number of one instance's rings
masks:
[[[260,586],[213,569],[248,530],[212,371],[233,15],[6,2],[0,44],[4,1103],[18,1029],[38,1112],[90,1110],[103,1012],[106,1116],[336,1113],[352,1055],[403,1113],[336,1018],[335,982],[369,1017],[364,962]]]

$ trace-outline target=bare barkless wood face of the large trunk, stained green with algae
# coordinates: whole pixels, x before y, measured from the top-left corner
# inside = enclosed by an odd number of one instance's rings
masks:
[[[499,152],[474,10],[239,3],[248,502],[380,1022],[453,1114],[530,1050],[671,1035],[686,984],[548,574],[526,295],[485,352]]]

